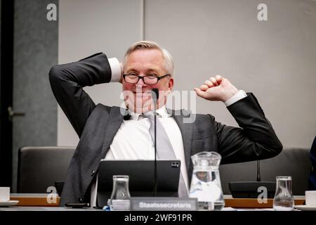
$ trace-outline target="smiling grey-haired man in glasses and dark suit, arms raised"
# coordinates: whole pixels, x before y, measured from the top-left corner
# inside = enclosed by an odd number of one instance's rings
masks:
[[[53,66],[49,78],[55,98],[80,138],[60,205],[96,204],[100,160],[154,158],[150,121],[145,116],[154,109],[148,94],[153,88],[161,93],[157,120],[172,140],[174,155],[181,161],[187,190],[192,176],[191,155],[216,151],[225,164],[272,158],[282,150],[254,95],[238,90],[219,75],[196,88],[196,94],[208,101],[223,101],[241,128],[220,124],[212,115],[166,109],[166,96],[173,89],[173,60],[168,51],[152,41],[133,44],[122,63],[98,53],[78,62]],[[121,82],[124,107],[96,105],[83,89],[108,82]],[[185,122],[187,117],[194,120]]]

